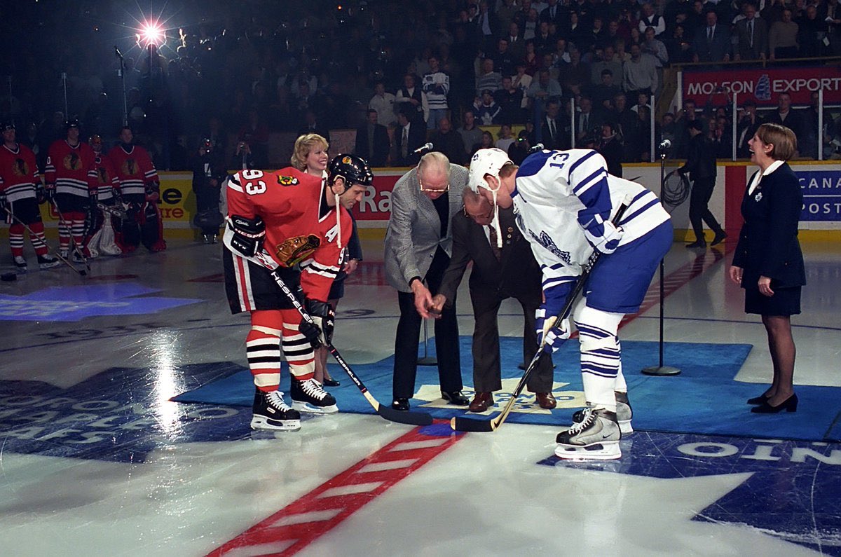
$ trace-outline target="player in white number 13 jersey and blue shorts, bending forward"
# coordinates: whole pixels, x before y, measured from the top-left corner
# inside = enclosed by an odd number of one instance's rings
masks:
[[[596,151],[540,151],[521,167],[505,151],[482,149],[470,162],[468,185],[495,207],[514,205],[517,225],[543,272],[545,302],[537,310],[537,340],[555,350],[569,338],[569,319],[552,327],[594,250],[602,253],[573,308],[579,331],[587,407],[558,433],[562,459],[618,459],[621,432],[632,432],[631,406],[616,332],[635,313],[660,259],[672,243],[669,214],[653,192],[607,173]],[[618,226],[611,223],[630,199]],[[499,226],[495,220],[493,223]],[[498,237],[501,237],[498,231]]]

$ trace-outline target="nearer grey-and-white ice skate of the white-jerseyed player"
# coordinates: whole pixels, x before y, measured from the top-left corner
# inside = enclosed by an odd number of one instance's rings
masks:
[[[581,422],[558,433],[555,454],[561,459],[611,460],[621,457],[621,432],[616,412],[584,408]]]

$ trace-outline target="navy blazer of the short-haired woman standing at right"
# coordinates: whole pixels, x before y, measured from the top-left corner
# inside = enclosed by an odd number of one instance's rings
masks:
[[[753,182],[748,180],[748,188]],[[803,193],[788,164],[762,178],[759,187],[742,199],[744,224],[739,233],[733,265],[744,269],[742,286],[755,286],[760,276],[774,286],[806,284],[803,254],[797,240]]]

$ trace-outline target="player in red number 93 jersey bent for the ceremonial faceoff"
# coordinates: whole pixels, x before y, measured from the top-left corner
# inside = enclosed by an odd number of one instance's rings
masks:
[[[362,199],[373,174],[368,162],[339,155],[322,179],[296,168],[242,170],[228,180],[228,218],[223,241],[225,293],[233,313],[251,312],[246,337],[254,376],[253,429],[295,431],[300,412],[331,414],[336,399],[315,380],[314,347],[330,344],[330,287],[341,269],[352,234],[348,210]],[[303,296],[316,326],[298,310],[273,273]],[[292,376],[292,407],[280,388],[281,350]]]

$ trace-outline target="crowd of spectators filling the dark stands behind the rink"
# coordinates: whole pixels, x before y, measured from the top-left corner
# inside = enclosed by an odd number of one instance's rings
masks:
[[[0,27],[19,48],[0,59],[8,76],[0,115],[40,165],[71,117],[82,135],[115,140],[124,98],[128,125],[160,169],[189,169],[204,140],[229,167],[268,168],[270,134],[329,140],[336,129],[357,130],[356,152],[375,167],[415,164],[426,141],[457,163],[482,146],[516,160],[537,142],[603,149],[613,164],[644,161],[652,96],[670,65],[841,53],[838,0],[205,0],[173,15],[160,8],[167,41],[152,47],[133,36],[143,15],[116,0],[3,8]],[[801,155],[817,156],[817,105],[785,120],[791,99],[782,97],[768,114],[740,108],[740,156],[745,130],[764,119],[801,125],[792,128],[798,136],[811,134]],[[696,118],[720,156],[730,155],[733,115],[718,100],[657,119],[655,136],[673,141],[670,155],[685,156]],[[832,151],[841,126],[832,114],[824,122]]]

